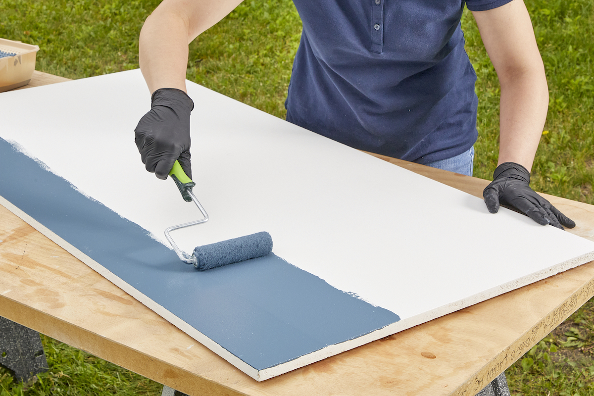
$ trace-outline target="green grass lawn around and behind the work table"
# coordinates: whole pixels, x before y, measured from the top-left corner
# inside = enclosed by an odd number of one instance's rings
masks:
[[[138,67],[138,33],[156,0],[0,0],[0,37],[39,45],[37,70],[84,78]],[[592,0],[526,0],[545,62],[550,103],[536,154],[537,191],[594,204]],[[466,49],[479,96],[475,176],[497,163],[497,76],[468,12]],[[189,80],[280,118],[301,23],[289,0],[246,0],[190,45]],[[594,395],[594,306],[587,303],[507,370],[513,394]],[[5,395],[157,395],[160,385],[48,337],[50,371]]]

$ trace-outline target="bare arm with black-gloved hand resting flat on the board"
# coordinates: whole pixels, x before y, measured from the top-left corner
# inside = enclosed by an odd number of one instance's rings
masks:
[[[536,223],[563,229],[576,226],[530,188],[530,169],[549,104],[545,67],[523,0],[473,12],[501,84],[499,161],[483,191],[489,212],[500,204],[516,208]]]

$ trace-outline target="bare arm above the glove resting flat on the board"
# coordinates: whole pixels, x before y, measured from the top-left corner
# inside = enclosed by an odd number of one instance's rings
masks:
[[[530,170],[549,101],[530,16],[523,0],[473,16],[501,84],[498,165],[515,162]]]

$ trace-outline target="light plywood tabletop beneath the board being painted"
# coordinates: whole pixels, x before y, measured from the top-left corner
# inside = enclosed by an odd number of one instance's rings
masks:
[[[479,197],[488,183],[383,159]],[[592,205],[547,198],[594,240]],[[1,316],[190,395],[473,395],[594,294],[590,262],[256,382],[4,207],[0,240]]]

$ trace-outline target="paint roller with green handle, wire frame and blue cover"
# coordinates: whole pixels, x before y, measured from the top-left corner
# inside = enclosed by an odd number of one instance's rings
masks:
[[[169,176],[175,181],[184,201],[193,201],[203,216],[203,218],[200,218],[199,220],[172,226],[165,230],[165,237],[179,259],[185,262],[185,264],[194,264],[194,267],[198,271],[204,271],[210,270],[211,268],[221,267],[222,265],[266,256],[272,252],[272,237],[267,232],[258,232],[252,235],[240,236],[234,239],[223,240],[222,242],[211,243],[210,245],[198,246],[194,249],[192,255],[188,255],[186,252],[181,251],[181,249],[178,248],[178,245],[173,242],[173,238],[169,235],[170,232],[206,223],[208,221],[208,214],[192,192],[192,187],[194,187],[196,183],[188,178],[179,164],[179,161],[175,161],[173,168],[169,172]]]

